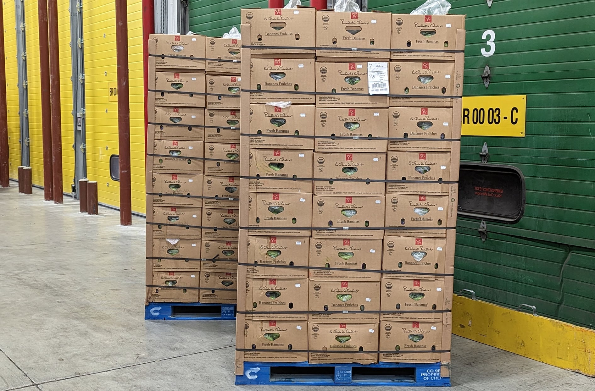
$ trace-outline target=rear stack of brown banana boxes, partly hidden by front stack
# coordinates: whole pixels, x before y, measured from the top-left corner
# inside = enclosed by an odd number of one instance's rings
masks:
[[[240,46],[149,37],[146,303],[236,302]]]

